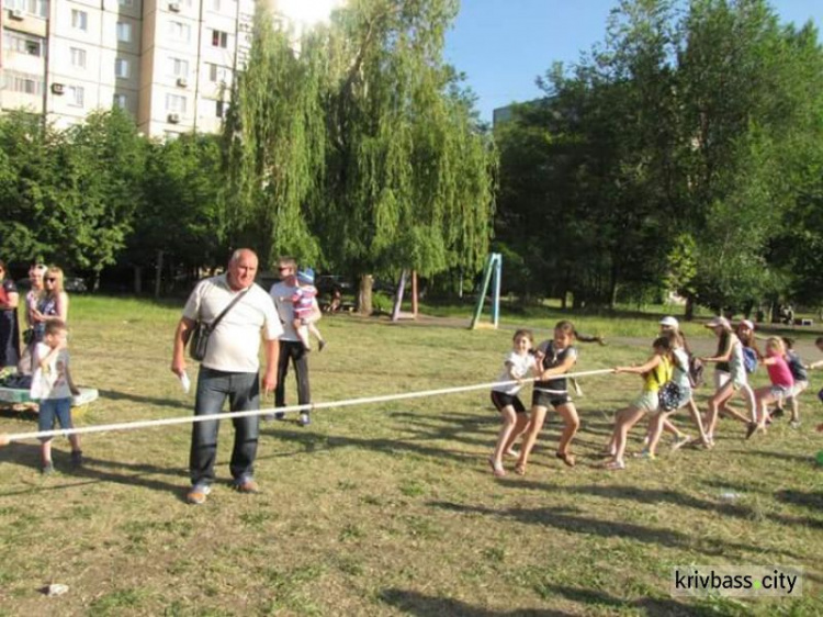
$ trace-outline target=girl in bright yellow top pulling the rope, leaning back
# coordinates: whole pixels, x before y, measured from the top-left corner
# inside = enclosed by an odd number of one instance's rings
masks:
[[[643,390],[628,407],[615,415],[615,430],[607,446],[607,453],[611,460],[604,464],[604,469],[618,471],[625,469],[625,442],[629,430],[646,413],[655,413],[659,406],[657,393],[661,386],[672,379],[672,338],[673,334],[654,339],[654,354],[639,367],[616,367],[616,373],[639,374],[643,378]],[[649,456],[651,458],[651,456]]]

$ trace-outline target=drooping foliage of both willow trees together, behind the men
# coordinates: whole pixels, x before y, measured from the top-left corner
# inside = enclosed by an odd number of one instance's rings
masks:
[[[363,0],[292,48],[263,10],[224,132],[229,244],[351,272],[474,271],[495,153],[442,60],[452,0]]]

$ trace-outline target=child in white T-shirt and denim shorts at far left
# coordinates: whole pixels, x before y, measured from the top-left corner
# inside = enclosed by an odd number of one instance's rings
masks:
[[[60,428],[74,428],[71,422],[71,395],[80,391],[71,380],[69,354],[65,322],[52,319],[44,326],[43,340],[34,346],[34,375],[32,377],[31,396],[40,401],[37,430],[52,430],[55,418]],[[49,474],[54,471],[52,462],[52,437],[41,439],[42,471]],[[69,435],[71,444],[71,464],[82,464],[80,437]]]

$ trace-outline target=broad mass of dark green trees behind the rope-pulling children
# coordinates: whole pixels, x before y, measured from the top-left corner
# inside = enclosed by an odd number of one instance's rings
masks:
[[[668,285],[743,307],[792,279],[813,298],[798,274],[820,243],[797,233],[814,221],[799,198],[820,204],[818,34],[765,0],[675,4],[621,2],[605,42],[500,127],[498,237],[578,303]]]

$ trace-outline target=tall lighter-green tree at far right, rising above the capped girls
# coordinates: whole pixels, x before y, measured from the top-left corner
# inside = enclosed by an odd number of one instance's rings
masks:
[[[820,78],[808,80],[809,49],[798,53],[796,34],[765,0],[698,0],[683,26],[686,207],[700,231],[695,284],[701,303],[745,310],[786,291],[767,266],[794,201],[785,177],[797,167],[797,135],[819,122],[808,88]]]

